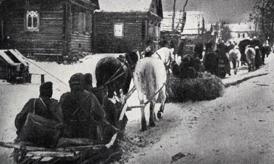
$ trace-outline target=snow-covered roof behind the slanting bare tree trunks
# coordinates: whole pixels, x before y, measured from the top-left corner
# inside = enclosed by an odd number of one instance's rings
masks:
[[[161,21],[161,31],[172,31],[172,16],[173,12],[164,12],[164,19]],[[174,27],[176,28],[180,18],[182,18],[182,12],[175,12]],[[182,34],[198,34],[198,29],[202,28],[202,19],[204,14],[199,11],[187,11],[186,22]],[[198,27],[198,23],[200,26]],[[182,23],[179,23],[178,32],[181,32]]]

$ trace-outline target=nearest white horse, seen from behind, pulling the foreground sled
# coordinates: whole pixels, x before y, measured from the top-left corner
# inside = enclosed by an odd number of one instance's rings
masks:
[[[163,117],[164,113],[164,105],[166,100],[165,93],[165,83],[167,80],[166,69],[164,63],[155,58],[146,57],[140,59],[135,67],[133,82],[138,92],[138,98],[140,100],[140,104],[143,105],[141,108],[141,122],[142,122],[142,130],[147,130],[147,123],[145,119],[145,98],[146,101],[150,101],[150,117],[149,124],[151,127],[155,126],[155,103],[158,96],[161,97],[161,107],[157,113],[158,119]],[[159,91],[159,92],[158,92]],[[149,102],[148,102],[149,103]]]

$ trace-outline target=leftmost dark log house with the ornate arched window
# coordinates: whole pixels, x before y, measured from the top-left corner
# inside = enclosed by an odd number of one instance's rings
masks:
[[[23,55],[90,52],[98,0],[2,0],[1,46]]]

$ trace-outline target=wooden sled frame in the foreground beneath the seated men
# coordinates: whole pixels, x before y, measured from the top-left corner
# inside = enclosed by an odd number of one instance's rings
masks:
[[[129,93],[126,94],[124,98],[121,98],[121,113],[118,118],[122,120],[128,106],[126,100],[132,95],[135,91],[135,87],[131,89]],[[26,145],[24,142],[19,144],[14,144],[12,142],[2,142],[0,141],[0,147],[13,148],[13,157],[17,164],[38,164],[38,163],[79,163],[85,164],[87,162],[87,154],[89,158],[96,156],[98,152],[107,152],[111,149],[111,146],[115,143],[118,133],[115,133],[110,142],[105,145],[87,145],[87,146],[75,146],[75,147],[59,147],[59,148],[45,148],[45,147],[35,147]]]

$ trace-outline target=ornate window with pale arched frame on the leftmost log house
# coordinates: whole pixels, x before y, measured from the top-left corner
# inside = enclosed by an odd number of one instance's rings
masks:
[[[39,17],[37,11],[27,11],[27,29],[38,30]]]

